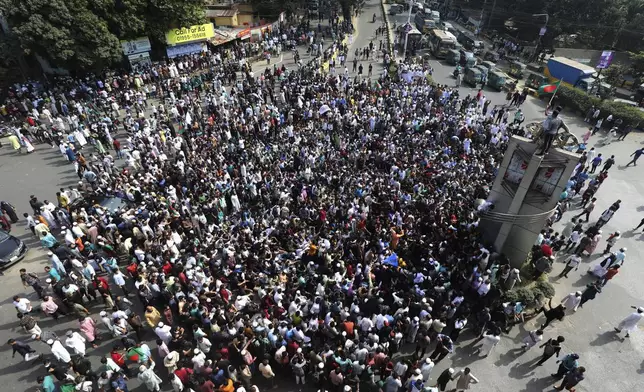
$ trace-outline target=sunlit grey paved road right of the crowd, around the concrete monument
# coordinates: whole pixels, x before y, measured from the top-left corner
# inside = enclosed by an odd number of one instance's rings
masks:
[[[391,17],[397,25],[407,21],[406,15]],[[454,84],[451,76],[453,67],[444,64],[443,61],[433,60],[434,80],[441,84]],[[485,95],[492,100],[492,104],[502,104],[505,94],[485,88]],[[468,87],[460,87],[461,94],[476,94],[476,90]],[[526,122],[542,120],[544,102],[528,97],[522,109],[526,116]],[[588,127],[582,119],[572,113],[563,113],[563,118],[577,136]],[[610,206],[615,200],[622,200],[622,208],[615,217],[603,228],[604,239],[609,232],[620,230],[623,238],[618,242],[620,246],[626,246],[627,262],[620,274],[611,281],[604,292],[594,301],[590,302],[577,314],[566,317],[563,322],[550,327],[546,331],[546,339],[563,335],[566,337],[563,352],[576,352],[581,356],[581,364],[588,369],[586,380],[580,384],[577,391],[606,391],[618,392],[627,390],[641,390],[644,374],[644,331],[631,334],[626,340],[616,339],[612,332],[613,326],[623,317],[628,315],[632,309],[630,305],[644,306],[644,286],[641,285],[644,277],[644,265],[641,260],[644,246],[642,241],[644,235],[634,233],[634,228],[644,217],[644,203],[641,196],[644,192],[644,175],[640,167],[625,168],[624,165],[630,160],[629,155],[637,148],[643,147],[644,135],[630,134],[625,141],[604,145],[604,137],[597,135],[590,141],[590,147],[595,147],[604,156],[615,155],[617,165],[609,173],[608,182],[598,192],[598,205],[596,212],[591,216],[596,220],[599,214]],[[564,215],[561,222],[567,222],[573,215],[578,213],[577,209]],[[563,226],[557,226],[561,229]],[[598,249],[605,247],[602,241]],[[601,251],[600,251],[601,252]],[[559,300],[566,294],[583,287],[590,282],[586,276],[588,265],[593,264],[599,258],[599,254],[592,255],[584,261],[579,271],[569,274],[568,279],[559,280],[551,278],[551,282],[557,289],[555,300]],[[561,260],[559,260],[561,261]],[[563,264],[556,264],[554,272],[558,274]],[[437,367],[441,371],[444,367],[469,366],[472,372],[482,380],[482,383],[474,386],[475,391],[541,391],[552,385],[548,375],[556,370],[554,361],[539,368],[533,368],[530,363],[540,353],[537,350],[518,355],[511,351],[517,347],[522,337],[516,335],[521,331],[533,330],[543,321],[542,318],[527,322],[524,327],[515,328],[513,334],[504,337],[495,351],[486,359],[475,360],[470,357],[470,350],[463,348],[463,344],[471,341],[462,341],[461,348],[457,349],[452,363],[441,364]],[[644,325],[640,325],[644,329]]]

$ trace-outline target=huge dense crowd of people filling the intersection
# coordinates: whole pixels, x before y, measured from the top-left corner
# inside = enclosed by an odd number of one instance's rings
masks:
[[[347,58],[352,27],[333,29],[327,53]],[[45,392],[127,392],[134,377],[151,392],[258,392],[284,378],[343,392],[478,383],[469,368],[432,368],[462,331],[487,356],[520,318],[503,302],[519,271],[478,232],[508,116],[416,65],[373,80],[318,60],[240,77],[215,66],[224,60],[22,91],[17,132],[60,148],[80,182],[54,202],[30,198],[24,216],[50,265],[46,280],[21,278],[47,317],[78,329],[41,328],[16,296],[39,343],[11,339],[14,355],[42,359]],[[539,250],[557,241],[546,231]],[[110,352],[94,368],[100,340]],[[562,341],[542,346],[541,363]],[[583,380],[575,355],[555,374],[561,388]]]

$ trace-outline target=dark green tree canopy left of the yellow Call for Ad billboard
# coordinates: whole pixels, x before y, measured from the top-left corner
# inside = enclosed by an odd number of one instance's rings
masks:
[[[0,0],[25,53],[90,71],[122,59],[120,40],[163,42],[173,27],[203,23],[203,0]]]

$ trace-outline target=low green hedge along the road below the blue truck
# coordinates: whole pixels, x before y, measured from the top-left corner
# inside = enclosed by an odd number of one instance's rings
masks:
[[[568,110],[585,114],[593,105],[598,106],[602,116],[613,115],[613,118],[621,118],[624,124],[638,126],[644,124],[644,112],[638,108],[626,105],[621,102],[600,100],[597,97],[587,94],[585,91],[567,86],[559,87],[557,91],[558,103]]]

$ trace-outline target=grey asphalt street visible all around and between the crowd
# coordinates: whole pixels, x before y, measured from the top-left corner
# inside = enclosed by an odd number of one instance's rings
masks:
[[[377,14],[376,23],[371,22],[373,13]],[[353,60],[355,48],[366,47],[373,39],[377,46],[380,39],[375,37],[375,30],[383,23],[384,15],[380,12],[380,3],[376,0],[368,0],[361,17],[357,20],[357,32],[349,50],[348,63]],[[396,16],[397,24],[404,23],[406,16]],[[305,49],[300,49],[303,60],[306,60]],[[281,60],[287,68],[295,67],[292,55],[284,53]],[[365,68],[367,62],[363,62]],[[446,66],[438,60],[431,60],[434,68],[434,79],[442,84],[454,84],[451,77],[452,67]],[[263,70],[265,65],[257,63],[253,66],[255,72]],[[349,67],[351,68],[351,67]],[[381,72],[379,61],[374,62],[374,75]],[[460,87],[462,95],[475,94],[476,90],[468,87]],[[493,104],[503,104],[504,93],[485,89],[486,96]],[[528,97],[523,105],[526,121],[541,120],[543,118],[544,103]],[[571,130],[581,135],[584,130],[584,123],[581,119],[572,114],[564,113],[564,119]],[[629,161],[629,155],[637,148],[644,147],[644,135],[630,134],[625,141],[613,142],[604,145],[604,138],[601,135],[594,136],[590,146],[595,146],[605,156],[614,154],[617,164],[609,172],[609,177],[598,192],[598,205],[591,222],[597,219],[601,211],[608,208],[616,199],[622,200],[621,209],[615,217],[604,226],[604,238],[609,232],[621,230],[623,238],[618,246],[626,246],[626,263],[621,272],[604,288],[597,299],[589,302],[576,314],[567,316],[564,321],[556,322],[550,326],[545,333],[545,338],[563,335],[566,337],[562,350],[563,354],[576,352],[580,355],[580,363],[587,368],[587,377],[578,387],[577,391],[603,391],[603,392],[624,392],[641,391],[644,381],[644,331],[635,331],[629,339],[618,339],[612,332],[615,326],[623,317],[631,311],[630,305],[644,305],[644,286],[641,285],[644,277],[644,265],[640,263],[644,252],[644,235],[641,232],[631,231],[644,217],[644,202],[641,202],[641,195],[644,194],[644,174],[641,167],[625,168]],[[17,207],[19,215],[29,211],[29,195],[35,194],[42,199],[55,199],[55,192],[60,187],[74,185],[78,177],[73,171],[72,165],[68,164],[61,156],[58,149],[51,149],[49,146],[36,145],[36,151],[29,155],[17,155],[6,143],[0,148],[0,181],[3,184],[0,192],[0,199],[10,201]],[[577,210],[568,212],[563,222],[569,220]],[[18,270],[27,268],[28,271],[42,273],[46,265],[46,258],[39,244],[25,229],[21,222],[14,226],[12,234],[25,240],[31,247],[27,257],[18,265],[5,271],[0,276],[0,342],[6,342],[9,338],[26,338],[25,333],[18,327],[16,312],[12,306],[12,297],[16,294],[26,294],[34,305],[38,304],[32,290],[24,289],[20,282]],[[597,249],[603,249],[604,241]],[[598,252],[601,252],[599,250]],[[587,258],[577,272],[571,272],[568,279],[550,278],[557,289],[555,301],[560,300],[570,292],[583,289],[590,278],[586,275],[589,265],[595,263],[599,254]],[[563,268],[563,264],[557,263],[553,275],[557,275]],[[101,305],[92,306],[94,315],[101,310]],[[556,370],[554,359],[542,367],[534,367],[534,363],[540,357],[540,350],[533,348],[527,353],[516,350],[521,340],[525,337],[526,331],[536,329],[543,322],[542,316],[515,327],[509,335],[502,337],[501,343],[492,351],[487,358],[478,358],[473,355],[474,337],[469,332],[462,334],[457,348],[453,354],[439,363],[433,370],[433,377],[437,377],[446,367],[461,368],[469,366],[472,373],[479,378],[480,384],[472,387],[473,391],[520,391],[533,392],[549,390],[554,381],[549,377],[550,373]],[[59,336],[70,328],[77,327],[74,319],[64,319],[54,322],[50,319],[43,319],[40,322],[41,328],[52,330]],[[641,327],[644,327],[642,325]],[[148,331],[149,343],[153,343],[154,334]],[[48,352],[46,345],[33,342],[33,347],[39,352]],[[99,365],[100,355],[110,349],[109,342],[101,342],[98,349],[89,349],[88,354],[92,359],[94,368]],[[153,344],[151,344],[153,347]],[[413,350],[412,347],[404,347],[402,355]],[[36,377],[43,374],[43,368],[38,363],[24,363],[19,356],[11,357],[11,348],[3,344],[0,346],[0,361],[4,366],[0,368],[1,391],[34,391],[37,387]],[[161,375],[163,378],[164,375]],[[137,380],[128,382],[130,390],[143,392],[144,387],[140,386]],[[262,384],[259,384],[260,388]],[[164,390],[170,390],[169,385],[164,385]],[[308,386],[307,386],[308,387]],[[278,390],[294,390],[292,380],[280,383]],[[308,389],[308,388],[307,388]]]

